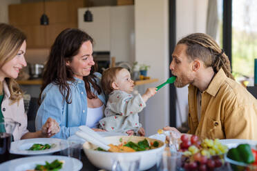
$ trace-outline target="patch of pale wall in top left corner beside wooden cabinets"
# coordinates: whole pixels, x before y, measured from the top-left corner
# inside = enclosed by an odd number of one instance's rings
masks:
[[[0,23],[9,23],[8,6],[13,3],[21,3],[21,0],[0,0]]]

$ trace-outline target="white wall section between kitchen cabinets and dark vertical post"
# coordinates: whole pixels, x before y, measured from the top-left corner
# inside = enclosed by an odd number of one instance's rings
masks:
[[[135,61],[151,66],[149,76],[158,86],[169,77],[169,6],[167,0],[135,0]],[[146,89],[146,86],[144,90]],[[140,119],[146,135],[169,124],[169,86],[160,89],[146,103]]]

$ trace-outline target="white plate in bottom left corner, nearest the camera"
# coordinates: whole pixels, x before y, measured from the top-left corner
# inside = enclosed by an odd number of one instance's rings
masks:
[[[24,171],[33,170],[36,165],[46,165],[46,161],[49,163],[58,159],[59,161],[64,161],[61,170],[59,171],[70,171],[70,170],[80,170],[83,166],[82,162],[75,158],[70,158],[66,156],[36,156],[36,157],[23,157],[19,159],[14,159],[6,161],[0,164],[0,170],[6,171]]]

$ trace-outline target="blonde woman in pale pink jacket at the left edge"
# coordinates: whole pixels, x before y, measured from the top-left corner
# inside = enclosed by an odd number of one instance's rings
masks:
[[[19,123],[12,134],[14,140],[52,137],[59,132],[59,125],[51,118],[48,118],[41,130],[27,130],[23,93],[15,81],[21,68],[27,65],[25,52],[26,36],[17,28],[0,23],[0,122],[12,119]]]

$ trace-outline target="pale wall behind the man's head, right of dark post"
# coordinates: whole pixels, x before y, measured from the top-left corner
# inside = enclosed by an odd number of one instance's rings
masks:
[[[206,33],[208,1],[177,0],[176,1],[176,40],[194,32]],[[177,127],[187,121],[188,88],[177,88],[176,102]]]

